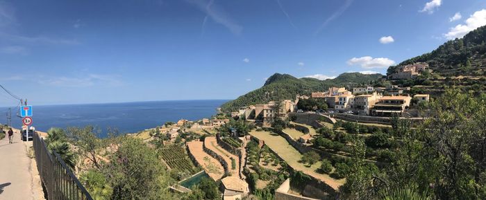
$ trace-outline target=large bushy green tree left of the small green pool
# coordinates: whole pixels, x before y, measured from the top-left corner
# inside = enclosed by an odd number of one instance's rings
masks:
[[[173,182],[156,151],[137,138],[124,136],[110,165],[103,170],[113,185],[112,199],[171,199]]]

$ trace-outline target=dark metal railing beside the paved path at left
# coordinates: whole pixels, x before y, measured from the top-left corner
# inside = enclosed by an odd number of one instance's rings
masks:
[[[33,136],[37,170],[49,200],[93,200],[58,153],[49,152],[37,133]]]

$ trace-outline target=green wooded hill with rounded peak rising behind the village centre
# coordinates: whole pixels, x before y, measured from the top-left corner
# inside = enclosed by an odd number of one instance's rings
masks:
[[[313,91],[325,91],[329,87],[354,87],[368,84],[383,77],[381,74],[342,73],[337,78],[318,80],[315,78],[295,78],[292,75],[276,73],[267,79],[263,87],[221,105],[224,112],[235,111],[251,104],[263,104],[271,100],[294,100],[297,95],[307,95]]]

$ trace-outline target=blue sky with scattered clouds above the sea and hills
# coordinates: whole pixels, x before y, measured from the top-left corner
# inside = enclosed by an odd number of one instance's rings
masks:
[[[332,78],[486,24],[480,0],[0,0],[0,83],[31,104],[233,99]],[[17,104],[0,93],[0,106]]]

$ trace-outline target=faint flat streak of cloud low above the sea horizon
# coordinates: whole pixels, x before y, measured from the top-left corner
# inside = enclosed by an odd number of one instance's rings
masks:
[[[53,78],[39,78],[40,84],[55,87],[119,87],[123,85],[119,75],[88,74],[83,77],[59,76]]]

